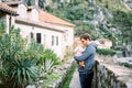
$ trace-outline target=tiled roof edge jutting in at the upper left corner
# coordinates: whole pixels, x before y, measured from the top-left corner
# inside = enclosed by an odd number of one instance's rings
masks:
[[[0,2],[0,12],[12,14],[12,15],[18,15],[16,11],[14,11],[12,8],[10,8],[9,6],[2,2]]]

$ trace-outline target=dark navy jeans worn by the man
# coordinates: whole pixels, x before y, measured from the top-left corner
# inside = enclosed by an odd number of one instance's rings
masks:
[[[79,73],[79,80],[81,88],[91,88],[94,72],[89,74]]]

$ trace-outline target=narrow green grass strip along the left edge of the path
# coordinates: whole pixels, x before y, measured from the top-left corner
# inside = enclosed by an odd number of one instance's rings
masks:
[[[76,69],[76,63],[74,63],[73,67],[70,68],[70,70],[67,73],[67,76],[65,77],[66,80],[65,80],[65,84],[63,86],[63,88],[69,88],[69,84],[72,81],[72,78],[73,78],[73,75],[74,75],[74,72]]]

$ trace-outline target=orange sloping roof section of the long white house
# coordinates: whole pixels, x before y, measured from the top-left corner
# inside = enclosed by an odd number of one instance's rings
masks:
[[[38,15],[38,19],[42,21],[42,22],[46,22],[46,23],[53,23],[53,24],[59,24],[59,25],[67,25],[67,26],[75,26],[75,24],[72,24],[69,22],[66,22],[55,15],[52,15],[45,11],[42,11],[40,10],[40,15]]]

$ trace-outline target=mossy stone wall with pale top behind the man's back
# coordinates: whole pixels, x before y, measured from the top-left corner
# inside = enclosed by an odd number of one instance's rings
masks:
[[[132,69],[111,63],[107,57],[96,57],[95,70],[95,88],[132,88]]]

